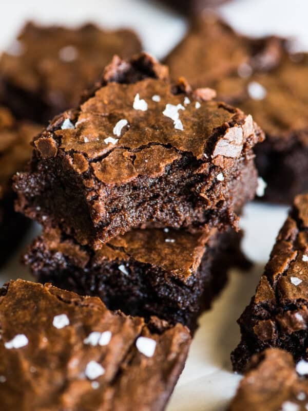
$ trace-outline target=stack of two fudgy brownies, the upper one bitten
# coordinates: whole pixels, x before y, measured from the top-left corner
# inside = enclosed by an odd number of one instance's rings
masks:
[[[170,82],[147,54],[114,57],[34,138],[17,210],[43,226],[25,259],[40,282],[194,330],[238,263],[238,213],[255,195],[251,116]]]

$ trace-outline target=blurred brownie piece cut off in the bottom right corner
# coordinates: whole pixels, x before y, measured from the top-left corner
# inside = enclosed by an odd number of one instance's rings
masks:
[[[229,411],[306,411],[308,363],[295,368],[291,354],[267,348],[253,356]]]

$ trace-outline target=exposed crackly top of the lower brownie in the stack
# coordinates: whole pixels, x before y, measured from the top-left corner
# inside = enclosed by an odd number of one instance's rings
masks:
[[[81,268],[87,264],[95,266],[118,261],[121,267],[124,263],[128,272],[129,263],[133,260],[164,270],[168,275],[185,281],[198,270],[204,252],[210,247],[211,241],[215,241],[216,230],[192,234],[167,228],[134,229],[114,237],[107,244],[101,244],[95,252],[79,246],[72,238],[61,237],[59,229],[46,228],[42,238],[48,251],[62,253]]]

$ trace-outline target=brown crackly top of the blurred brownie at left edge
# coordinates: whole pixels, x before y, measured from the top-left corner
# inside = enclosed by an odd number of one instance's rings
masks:
[[[31,157],[30,141],[41,129],[34,123],[16,122],[10,111],[0,106],[0,198],[11,190],[13,174]]]

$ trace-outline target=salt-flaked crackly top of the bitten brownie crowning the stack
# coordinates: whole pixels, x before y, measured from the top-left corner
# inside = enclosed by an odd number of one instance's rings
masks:
[[[145,53],[130,62],[115,57],[80,108],[54,119],[34,143],[43,158],[65,157],[76,173],[105,184],[158,177],[187,152],[227,168],[263,135],[251,116],[211,101],[214,94],[184,79],[170,83],[166,67]]]

